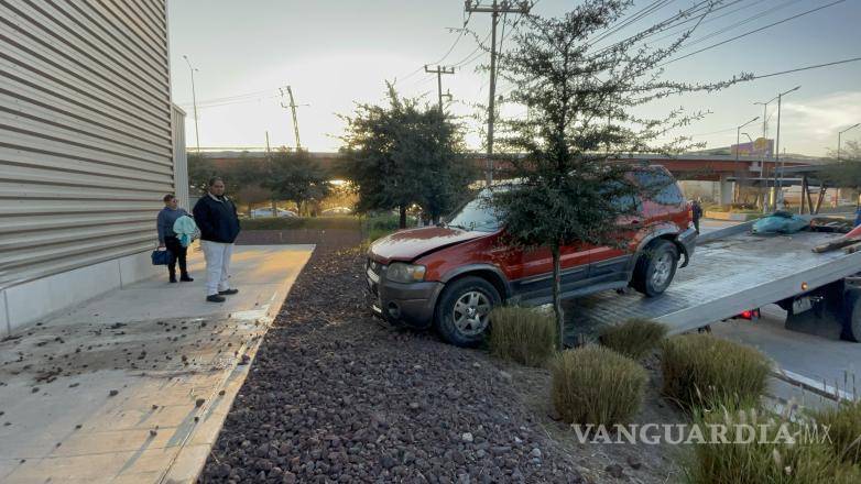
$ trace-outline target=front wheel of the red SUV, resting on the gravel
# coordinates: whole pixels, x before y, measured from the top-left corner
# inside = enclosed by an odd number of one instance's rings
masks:
[[[481,308],[481,317],[478,319],[469,318],[462,311],[456,310],[456,306],[458,308],[466,306],[469,310],[470,300],[475,300],[476,306]],[[434,326],[447,342],[456,346],[475,348],[484,341],[490,329],[490,309],[501,302],[499,292],[487,279],[476,276],[456,279],[446,284],[439,295],[434,311]],[[479,322],[470,322],[469,319]]]

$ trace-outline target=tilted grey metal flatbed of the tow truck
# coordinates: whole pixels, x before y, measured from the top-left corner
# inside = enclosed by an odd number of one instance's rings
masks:
[[[861,273],[861,252],[811,251],[839,237],[739,233],[699,243],[690,264],[658,297],[604,292],[565,301],[566,340],[593,337],[598,326],[630,318],[663,322],[671,333],[690,331]]]

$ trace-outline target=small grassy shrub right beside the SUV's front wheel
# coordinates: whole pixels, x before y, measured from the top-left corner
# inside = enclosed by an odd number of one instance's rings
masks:
[[[556,349],[552,314],[519,307],[498,307],[490,314],[490,351],[494,356],[528,366],[543,366]]]

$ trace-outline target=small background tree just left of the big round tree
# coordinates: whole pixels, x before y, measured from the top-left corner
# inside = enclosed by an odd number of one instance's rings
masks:
[[[331,191],[330,177],[306,151],[279,150],[266,172],[263,187],[272,191],[272,198],[295,202],[299,213],[313,212],[308,205],[321,201]]]

